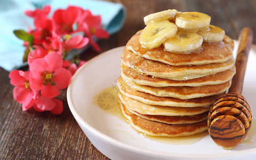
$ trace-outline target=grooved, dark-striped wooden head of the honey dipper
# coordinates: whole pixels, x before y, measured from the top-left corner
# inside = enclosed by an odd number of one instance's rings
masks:
[[[207,127],[215,143],[234,147],[246,137],[251,121],[251,109],[245,98],[238,93],[227,93],[212,105]]]

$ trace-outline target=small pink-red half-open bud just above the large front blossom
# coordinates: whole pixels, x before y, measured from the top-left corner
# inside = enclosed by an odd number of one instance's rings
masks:
[[[35,59],[44,58],[44,56],[48,53],[48,51],[42,46],[34,45],[33,47],[35,49],[28,53],[28,65],[30,65],[30,63]]]

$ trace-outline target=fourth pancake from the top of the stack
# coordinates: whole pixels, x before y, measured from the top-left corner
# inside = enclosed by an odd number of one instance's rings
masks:
[[[122,77],[119,82],[122,82]],[[124,80],[124,79],[123,79]],[[226,92],[231,80],[222,84],[203,85],[199,87],[190,86],[167,86],[167,87],[152,87],[148,85],[139,85],[131,81],[124,80],[132,89],[153,94],[158,97],[173,97],[178,99],[191,99],[198,97],[207,97],[210,95],[217,95]]]

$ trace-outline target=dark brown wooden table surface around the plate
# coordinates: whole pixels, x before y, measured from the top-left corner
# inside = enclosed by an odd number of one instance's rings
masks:
[[[211,16],[211,24],[219,26],[226,34],[237,39],[243,27],[256,32],[256,1],[189,1],[189,0],[143,0],[111,1],[122,3],[127,10],[124,27],[109,39],[99,41],[101,51],[92,49],[82,54],[90,60],[104,51],[123,46],[136,31],[145,27],[145,15],[167,10],[198,11]],[[254,44],[256,37],[254,34]],[[66,90],[59,99],[63,101],[63,113],[53,115],[34,109],[22,111],[21,105],[13,100],[8,77],[9,72],[0,68],[0,159],[108,159],[101,154],[76,123],[71,114]]]

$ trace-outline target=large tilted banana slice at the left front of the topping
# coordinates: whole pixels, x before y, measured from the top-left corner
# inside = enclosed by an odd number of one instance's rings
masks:
[[[173,37],[177,30],[177,26],[168,20],[151,21],[142,30],[139,41],[147,49],[154,49],[161,46],[168,38]]]

